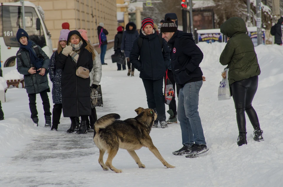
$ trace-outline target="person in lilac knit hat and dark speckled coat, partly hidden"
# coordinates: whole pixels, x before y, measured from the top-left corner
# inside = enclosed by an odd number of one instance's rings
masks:
[[[55,62],[58,59],[58,54],[66,47],[67,38],[70,30],[62,29],[60,31],[60,37],[58,41],[57,50],[52,54],[50,58],[50,63],[48,66],[49,77],[53,83],[52,87],[52,100],[53,100],[53,111],[52,111],[52,127],[51,130],[57,131],[58,124],[60,124],[60,117],[62,113],[62,94],[61,94],[61,76],[62,69],[57,69]],[[78,121],[76,120],[78,126]]]

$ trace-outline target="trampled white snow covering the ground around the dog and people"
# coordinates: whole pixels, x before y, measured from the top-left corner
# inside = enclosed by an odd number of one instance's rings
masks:
[[[124,172],[103,171],[92,133],[67,134],[70,120],[63,117],[58,132],[44,128],[39,95],[39,127],[34,127],[26,91],[9,88],[6,103],[2,103],[5,120],[0,121],[0,186],[282,186],[283,48],[256,47],[261,75],[253,106],[264,131],[264,141],[253,140],[253,128],[247,118],[248,144],[238,147],[233,100],[217,99],[224,69],[219,56],[225,44],[198,45],[204,53],[200,66],[207,80],[200,90],[199,101],[210,148],[207,155],[196,158],[173,155],[173,151],[182,147],[182,138],[180,125],[172,124],[166,129],[160,126],[152,129],[150,135],[164,159],[176,168],[165,168],[147,148],[141,148],[136,153],[146,168],[138,168],[128,152],[120,149],[113,166]],[[106,54],[108,65],[103,66],[101,79],[104,106],[97,107],[97,115],[115,112],[121,119],[132,118],[136,116],[134,109],[147,108],[144,87],[137,71],[135,77],[128,77],[127,70],[116,71],[116,63],[111,62],[113,53],[111,49]],[[52,103],[51,93],[49,96]],[[104,161],[106,158],[105,155]]]

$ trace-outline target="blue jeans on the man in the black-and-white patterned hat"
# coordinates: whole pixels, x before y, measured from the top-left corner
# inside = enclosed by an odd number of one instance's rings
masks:
[[[178,96],[177,118],[182,131],[182,144],[191,147],[206,145],[203,127],[198,114],[198,97],[203,81],[189,82],[180,89]]]

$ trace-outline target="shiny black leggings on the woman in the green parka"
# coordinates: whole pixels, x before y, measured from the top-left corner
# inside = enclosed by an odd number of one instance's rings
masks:
[[[234,82],[231,85],[232,96],[236,108],[236,118],[239,133],[246,132],[245,110],[253,127],[259,127],[259,118],[257,117],[256,111],[251,106],[251,102],[253,101],[254,95],[256,94],[258,82],[259,77],[254,76],[248,79]]]

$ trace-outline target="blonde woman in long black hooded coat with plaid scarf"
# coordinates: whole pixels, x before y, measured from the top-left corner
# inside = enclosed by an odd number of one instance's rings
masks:
[[[62,69],[62,108],[63,116],[70,117],[71,131],[75,129],[75,117],[81,117],[76,134],[87,133],[86,119],[91,115],[90,78],[76,75],[78,67],[93,68],[92,54],[85,47],[86,41],[76,30],[68,34],[68,46],[58,55],[56,67]]]

